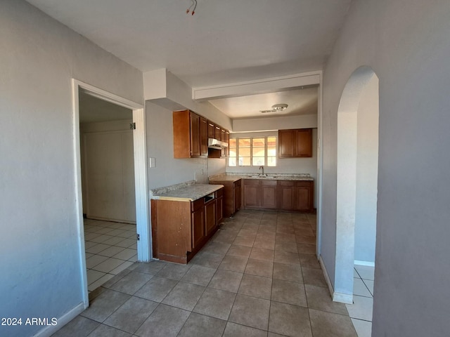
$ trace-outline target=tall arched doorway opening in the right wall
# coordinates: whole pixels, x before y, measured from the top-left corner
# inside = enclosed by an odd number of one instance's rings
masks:
[[[371,67],[359,67],[338,108],[333,300],[342,303],[353,303],[355,260],[375,263],[378,101],[378,77]]]

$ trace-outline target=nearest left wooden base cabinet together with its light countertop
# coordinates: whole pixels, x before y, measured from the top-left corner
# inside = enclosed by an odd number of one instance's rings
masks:
[[[188,263],[222,220],[223,185],[195,180],[150,190],[153,256]]]

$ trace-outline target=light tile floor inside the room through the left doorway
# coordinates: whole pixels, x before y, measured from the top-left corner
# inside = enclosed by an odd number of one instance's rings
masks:
[[[137,260],[136,225],[84,219],[89,292]]]

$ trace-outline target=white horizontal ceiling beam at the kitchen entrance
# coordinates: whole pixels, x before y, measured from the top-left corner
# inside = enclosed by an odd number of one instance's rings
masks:
[[[203,86],[192,88],[192,99],[197,101],[214,100],[217,98],[254,95],[255,93],[270,93],[291,90],[302,86],[320,84],[321,71],[293,74],[283,77],[272,77],[256,81],[245,81],[221,86]]]

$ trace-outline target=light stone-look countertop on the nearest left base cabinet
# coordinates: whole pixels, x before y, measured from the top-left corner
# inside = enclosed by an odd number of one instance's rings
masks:
[[[221,187],[224,187],[224,185],[195,184],[195,182],[181,183],[150,190],[150,199],[194,201],[220,190]]]

